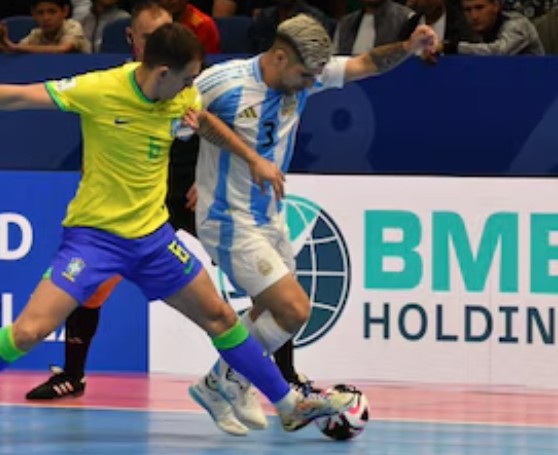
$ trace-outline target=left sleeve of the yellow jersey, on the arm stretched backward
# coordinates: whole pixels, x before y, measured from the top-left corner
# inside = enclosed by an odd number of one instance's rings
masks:
[[[87,73],[69,79],[48,81],[46,89],[63,111],[80,115],[92,115],[99,101],[102,72]]]

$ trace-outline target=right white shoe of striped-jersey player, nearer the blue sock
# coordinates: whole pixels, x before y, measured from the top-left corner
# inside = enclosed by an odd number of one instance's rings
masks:
[[[222,367],[224,373],[219,377],[219,391],[232,406],[237,419],[252,430],[267,428],[267,417],[256,388],[228,365]]]

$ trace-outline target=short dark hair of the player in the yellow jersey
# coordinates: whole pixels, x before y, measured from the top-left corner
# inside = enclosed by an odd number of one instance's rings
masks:
[[[143,63],[154,68],[166,65],[172,70],[182,70],[192,60],[202,61],[203,47],[196,36],[181,24],[161,25],[145,43]]]

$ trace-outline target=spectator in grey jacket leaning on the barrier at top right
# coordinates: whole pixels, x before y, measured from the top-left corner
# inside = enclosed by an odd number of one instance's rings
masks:
[[[445,41],[440,51],[468,55],[544,55],[535,26],[525,16],[503,12],[499,0],[462,0],[463,11],[482,42]]]

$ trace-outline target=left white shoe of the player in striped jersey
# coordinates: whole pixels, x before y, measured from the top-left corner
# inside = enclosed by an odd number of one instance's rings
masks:
[[[209,386],[207,376],[192,384],[188,392],[196,403],[209,413],[219,429],[234,436],[248,434],[248,428],[234,416],[231,405],[223,399],[217,389]]]

